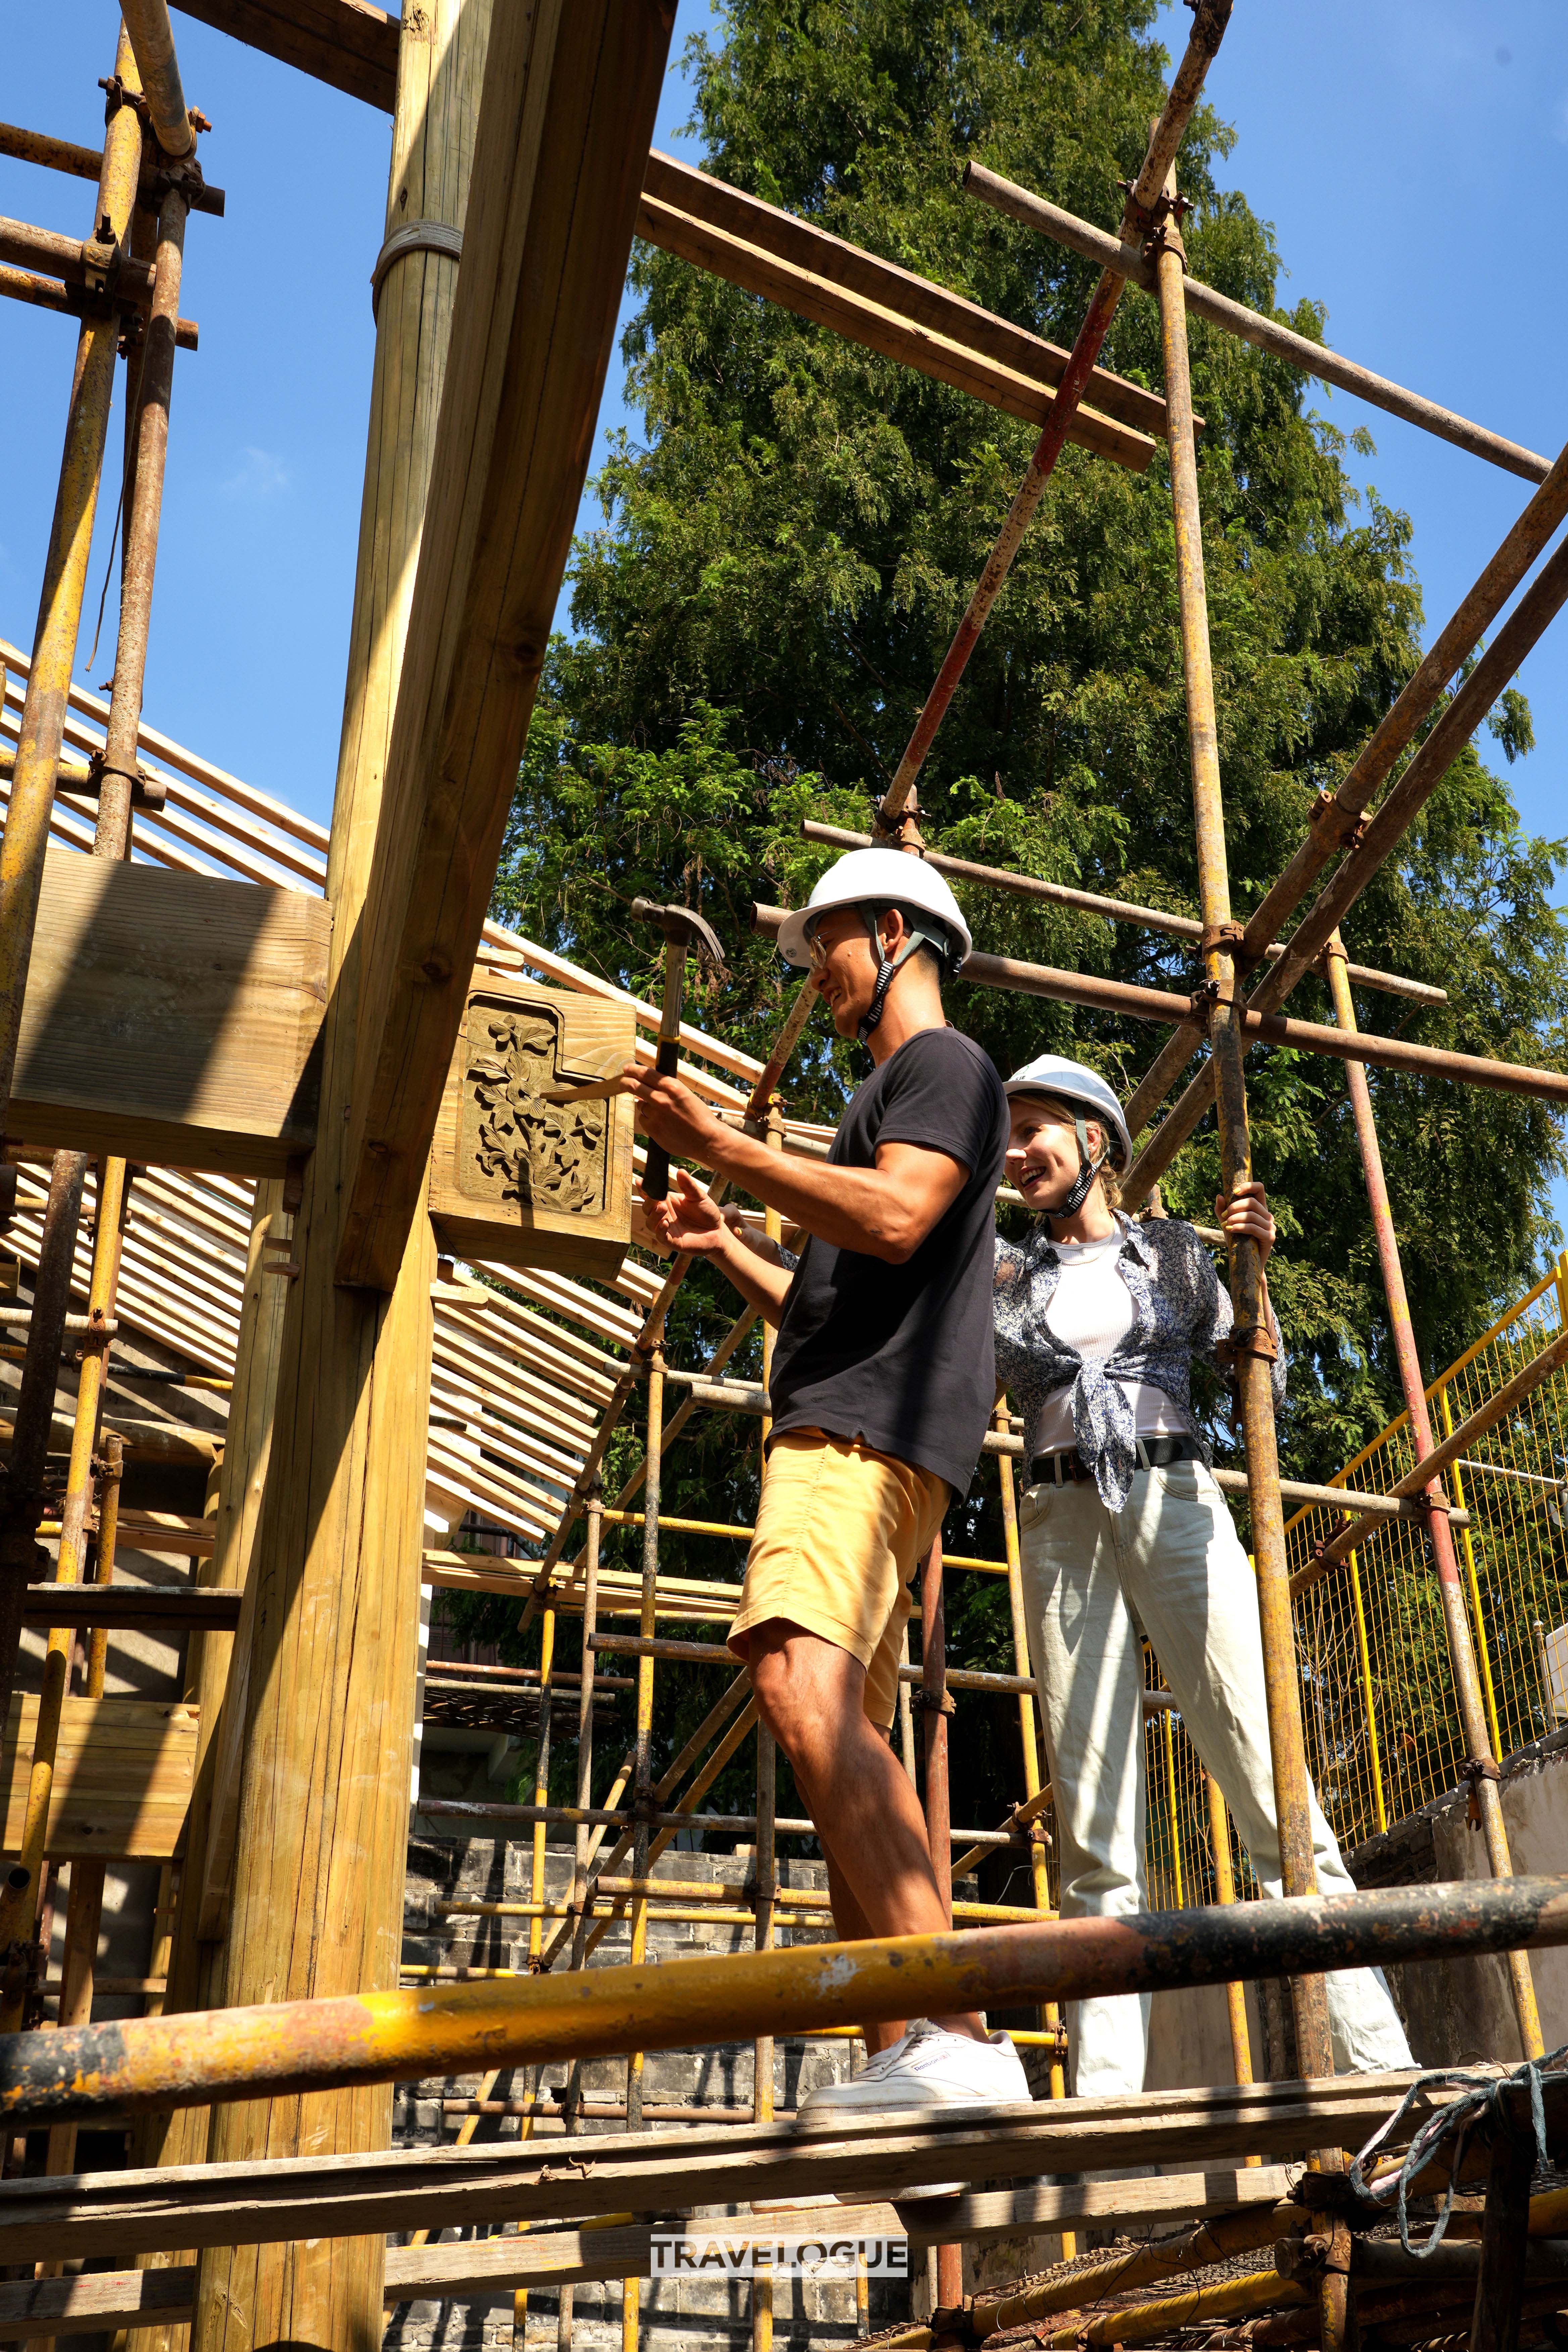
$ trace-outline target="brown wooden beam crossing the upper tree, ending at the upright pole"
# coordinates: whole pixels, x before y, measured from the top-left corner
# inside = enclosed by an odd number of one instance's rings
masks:
[[[1067,353],[1027,327],[658,151],[637,235],[1034,426],[1067,367]],[[1150,435],[1164,430],[1159,393],[1095,367],[1086,416],[1067,437],[1143,473],[1154,454]]]

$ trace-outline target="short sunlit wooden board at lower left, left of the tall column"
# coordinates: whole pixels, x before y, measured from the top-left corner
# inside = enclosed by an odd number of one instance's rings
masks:
[[[66,1611],[66,1623],[73,1616],[75,1609]],[[49,1856],[172,1860],[195,1785],[195,1733],[197,1712],[179,1700],[68,1698],[54,1757]],[[21,1851],[35,1736],[38,1700],[19,1691],[0,1740],[7,1856]]]

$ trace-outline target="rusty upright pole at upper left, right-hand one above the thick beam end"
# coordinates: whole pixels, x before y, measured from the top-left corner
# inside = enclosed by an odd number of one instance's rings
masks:
[[[120,637],[115,644],[115,684],[108,706],[108,734],[101,757],[99,856],[125,856],[132,830],[132,793],[136,783],[136,722],[148,661],[148,626],[153,619],[153,572],[158,564],[158,527],[162,517],[165,454],[169,447],[169,393],[174,388],[174,327],[179,320],[179,280],[186,252],[186,216],[190,212],[190,176],[165,174],[158,207],[158,256],[153,263],[153,310],[143,327],[141,397],[134,426],[134,463],[127,466],[125,562],[120,569]]]

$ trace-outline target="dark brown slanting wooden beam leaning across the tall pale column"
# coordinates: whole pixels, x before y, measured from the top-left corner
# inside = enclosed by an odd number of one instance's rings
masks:
[[[339,1282],[414,1218],[576,522],[675,0],[496,21],[367,906]]]

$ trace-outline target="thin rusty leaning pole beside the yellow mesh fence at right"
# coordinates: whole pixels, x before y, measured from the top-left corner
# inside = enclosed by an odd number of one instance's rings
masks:
[[[1338,1021],[1338,1025],[1354,1030],[1356,1007],[1349,993],[1349,976],[1345,971],[1345,946],[1338,931],[1328,941],[1328,993],[1333,997],[1333,1018]],[[1410,1444],[1415,1446],[1415,1461],[1425,1461],[1427,1454],[1434,1451],[1432,1416],[1427,1414],[1427,1388],[1420,1371],[1420,1355],[1415,1352],[1415,1324],[1410,1322],[1410,1298],[1406,1294],[1403,1265],[1399,1263],[1394,1209],[1389,1204],[1389,1188],[1382,1174],[1382,1150],[1378,1148],[1373,1094],[1366,1082],[1366,1068],[1359,1061],[1345,1063],[1345,1089],[1349,1094],[1349,1110],[1356,1124],[1356,1145],[1361,1150],[1366,1200],[1373,1211],[1373,1232],[1378,1237],[1378,1265],[1382,1270],[1382,1296],[1387,1298],[1389,1308],[1389,1331],[1394,1336],[1394,1357],[1399,1362],[1399,1385],[1403,1390],[1406,1414],[1410,1416]],[[1448,1510],[1446,1510],[1448,1496],[1443,1494],[1439,1479],[1432,1479],[1425,1498],[1432,1503],[1432,1510],[1427,1515],[1427,1541],[1432,1543],[1432,1562],[1436,1566],[1436,1583],[1443,1599],[1443,1625],[1448,1630],[1453,1689],[1460,1703],[1465,1745],[1469,1750],[1467,1759],[1469,1785],[1476,1792],[1481,1832],[1486,1837],[1486,1858],[1490,1863],[1493,1877],[1509,1879],[1514,1875],[1514,1856],[1509,1853],[1509,1835],[1502,1820],[1497,1759],[1493,1755],[1493,1740],[1486,1722],[1486,1693],[1481,1691],[1476,1646],[1469,1632],[1469,1616],[1465,1611],[1460,1562],[1453,1550],[1453,1529],[1448,1524]],[[1507,1971],[1509,1971],[1509,1994],[1514,2002],[1514,2020],[1519,2025],[1519,2044],[1526,2058],[1540,2058],[1544,2051],[1544,2039],[1540,2030],[1540,2009],[1535,2002],[1535,1980],[1530,1976],[1528,1957],[1523,1952],[1509,1952]]]

